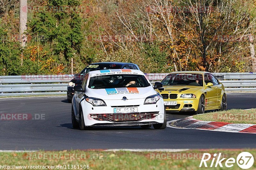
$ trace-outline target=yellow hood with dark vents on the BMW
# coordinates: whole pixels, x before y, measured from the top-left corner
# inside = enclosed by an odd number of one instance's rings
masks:
[[[177,91],[177,92],[184,92],[184,93],[193,93],[197,90],[203,88],[203,86],[194,86],[194,85],[164,85],[164,87],[159,88],[158,91]],[[161,92],[160,92],[161,93]]]

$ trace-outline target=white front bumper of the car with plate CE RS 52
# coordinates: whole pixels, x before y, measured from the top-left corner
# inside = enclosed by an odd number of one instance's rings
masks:
[[[83,100],[81,102],[85,126],[140,126],[164,123],[164,103],[161,98],[156,104],[144,105],[141,99],[130,101],[112,100],[107,106],[92,106]],[[112,103],[111,106],[110,103]],[[132,104],[133,103],[133,104]],[[126,105],[125,105],[126,104]],[[132,105],[131,105],[132,104]],[[137,107],[138,113],[114,113],[114,108],[123,106]]]

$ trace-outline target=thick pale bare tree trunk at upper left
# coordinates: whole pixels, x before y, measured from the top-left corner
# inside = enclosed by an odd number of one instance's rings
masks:
[[[27,20],[28,20],[28,14],[27,14],[27,6],[28,2],[27,0],[20,0],[20,45],[21,48],[25,47],[27,37],[24,33],[27,30]]]

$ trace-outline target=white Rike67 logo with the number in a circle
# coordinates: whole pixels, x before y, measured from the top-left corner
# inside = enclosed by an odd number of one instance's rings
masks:
[[[230,168],[230,167],[234,166],[235,163],[237,163],[237,165],[240,168],[248,169],[248,168],[252,167],[253,162],[254,162],[254,158],[253,158],[252,154],[249,152],[240,153],[236,157],[236,159],[235,158],[228,158],[228,159],[222,158],[221,159],[221,157],[222,157],[221,153],[219,153],[218,156],[217,156],[217,153],[214,153],[213,158],[211,159],[210,153],[204,153],[199,167],[202,167],[202,165],[203,165],[203,167],[218,167],[218,166],[223,167],[222,164],[224,164],[226,167]],[[210,159],[212,161],[208,161]],[[207,161],[208,161],[208,165],[207,165]],[[210,166],[209,166],[209,163],[211,163]]]

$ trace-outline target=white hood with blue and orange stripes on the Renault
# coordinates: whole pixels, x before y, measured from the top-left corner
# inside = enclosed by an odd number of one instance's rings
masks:
[[[145,99],[148,96],[155,95],[157,92],[152,86],[148,87],[123,87],[111,89],[86,89],[88,97],[95,97],[102,100],[122,100],[127,99]]]

